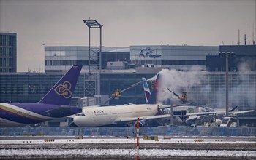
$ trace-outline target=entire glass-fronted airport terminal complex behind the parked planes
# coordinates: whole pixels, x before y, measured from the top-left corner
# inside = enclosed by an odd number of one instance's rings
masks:
[[[236,52],[238,57],[229,68],[230,108],[239,106],[240,111],[256,111],[256,46],[174,46],[144,45],[130,47],[102,47],[102,72],[100,74],[100,95],[111,95],[116,88],[126,89],[132,84],[156,75],[162,68],[188,71],[193,65],[200,65],[199,76],[203,83],[187,89],[189,99],[197,105],[212,108],[225,108],[225,70],[219,52],[227,49]],[[50,47],[45,46],[45,73],[1,73],[1,102],[37,102],[69,70],[72,65],[83,65],[82,73],[75,88],[74,103],[88,97],[89,47]],[[243,52],[246,50],[246,52]],[[219,59],[218,59],[219,58]],[[239,71],[241,61],[244,71]],[[254,63],[255,62],[255,63]],[[244,64],[244,63],[243,63]],[[223,66],[222,66],[223,65]],[[248,68],[249,66],[249,68]],[[93,84],[95,87],[96,85]],[[96,93],[96,91],[94,92]],[[91,96],[91,95],[90,95]],[[73,104],[74,104],[73,103]],[[146,103],[142,84],[123,92],[119,100],[111,100],[110,105]],[[256,112],[239,115],[240,125],[255,121]],[[246,119],[246,121],[244,121]]]

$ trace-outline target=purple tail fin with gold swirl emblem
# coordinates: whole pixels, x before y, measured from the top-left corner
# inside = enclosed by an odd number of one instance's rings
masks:
[[[73,65],[39,103],[69,105],[82,65]]]

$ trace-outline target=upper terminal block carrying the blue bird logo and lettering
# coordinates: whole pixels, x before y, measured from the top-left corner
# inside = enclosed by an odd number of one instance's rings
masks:
[[[174,68],[186,70],[200,65],[206,70],[206,56],[218,55],[214,46],[131,46],[131,63],[142,67]]]

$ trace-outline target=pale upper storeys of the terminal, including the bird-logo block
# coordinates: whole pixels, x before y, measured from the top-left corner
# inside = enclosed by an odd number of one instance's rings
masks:
[[[219,55],[219,47],[187,45],[102,47],[102,69],[152,67],[185,70],[192,65],[200,65],[206,70],[207,55]],[[88,71],[89,47],[45,46],[45,72],[65,71],[74,64],[84,65],[83,69]]]

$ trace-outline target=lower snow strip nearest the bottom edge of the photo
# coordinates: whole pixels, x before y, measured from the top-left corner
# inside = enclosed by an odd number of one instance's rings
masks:
[[[130,149],[15,149],[15,150],[0,150],[1,156],[64,156],[64,155],[92,155],[92,156],[104,156],[104,155],[119,155],[119,156],[135,156],[136,150]],[[140,150],[140,156],[219,156],[219,157],[255,157],[255,151],[216,151],[216,150],[159,150],[148,149]]]

